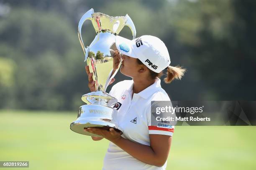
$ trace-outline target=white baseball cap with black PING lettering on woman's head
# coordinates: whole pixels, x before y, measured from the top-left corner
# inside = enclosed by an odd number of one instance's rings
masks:
[[[143,35],[134,40],[128,40],[116,36],[115,45],[120,53],[138,58],[150,70],[157,73],[171,63],[167,47],[158,37]]]

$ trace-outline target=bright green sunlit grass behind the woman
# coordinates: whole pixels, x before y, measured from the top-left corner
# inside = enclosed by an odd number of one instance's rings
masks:
[[[29,161],[26,169],[33,170],[100,170],[108,141],[72,132],[76,117],[0,111],[0,160]],[[177,126],[166,170],[256,169],[255,132],[254,126]]]

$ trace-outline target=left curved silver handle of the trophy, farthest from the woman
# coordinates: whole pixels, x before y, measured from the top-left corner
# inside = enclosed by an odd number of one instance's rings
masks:
[[[77,33],[78,33],[78,38],[79,38],[80,44],[81,44],[82,49],[83,49],[83,51],[84,51],[84,56],[85,56],[84,61],[87,60],[87,56],[88,56],[88,52],[87,52],[87,51],[88,51],[88,46],[87,46],[87,47],[84,46],[84,42],[83,42],[83,40],[82,40],[82,32],[81,32],[81,30],[82,30],[82,26],[83,26],[84,21],[86,21],[86,20],[92,20],[92,14],[93,14],[93,13],[94,13],[94,10],[91,8],[90,10],[88,10],[88,11],[82,16],[82,18],[80,19],[79,24],[78,24]]]

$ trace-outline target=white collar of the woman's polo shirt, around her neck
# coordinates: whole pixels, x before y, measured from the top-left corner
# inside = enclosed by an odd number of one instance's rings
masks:
[[[158,88],[161,87],[161,80],[157,77],[156,81],[154,82],[153,85],[148,86],[146,89],[142,90],[141,92],[137,93],[140,97],[147,99],[151,95],[153,95]],[[128,90],[133,90],[133,83],[131,86],[128,88]],[[136,93],[135,93],[136,94]]]

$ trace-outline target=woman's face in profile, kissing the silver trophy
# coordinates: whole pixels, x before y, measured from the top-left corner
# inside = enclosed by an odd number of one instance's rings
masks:
[[[122,59],[123,61],[121,63],[120,72],[128,77],[138,76],[138,70],[141,65],[138,64],[137,58],[122,55]]]

